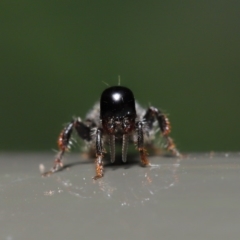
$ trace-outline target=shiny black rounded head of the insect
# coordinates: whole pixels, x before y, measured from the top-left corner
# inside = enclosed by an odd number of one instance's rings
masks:
[[[117,125],[121,125],[124,131],[130,130],[136,118],[132,91],[122,86],[105,89],[100,100],[100,118],[109,132]]]

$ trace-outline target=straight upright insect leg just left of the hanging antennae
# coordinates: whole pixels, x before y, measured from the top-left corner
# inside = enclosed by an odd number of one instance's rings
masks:
[[[96,176],[93,177],[94,180],[103,177],[103,153],[102,130],[98,128],[96,130]]]

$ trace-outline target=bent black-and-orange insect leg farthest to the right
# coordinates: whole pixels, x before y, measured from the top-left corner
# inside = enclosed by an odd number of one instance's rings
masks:
[[[173,139],[169,137],[169,133],[171,132],[171,125],[168,118],[157,108],[149,107],[146,114],[144,115],[144,121],[148,123],[150,129],[153,127],[153,122],[155,119],[157,119],[161,133],[166,139],[166,149],[171,151],[175,156],[180,157],[181,154],[177,150]]]

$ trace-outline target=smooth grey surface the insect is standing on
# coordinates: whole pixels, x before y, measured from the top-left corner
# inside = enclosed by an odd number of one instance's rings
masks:
[[[53,154],[0,154],[0,239],[239,239],[240,154],[150,158],[152,168],[68,154],[43,178]],[[129,159],[129,158],[128,158]],[[130,158],[131,159],[131,158]]]

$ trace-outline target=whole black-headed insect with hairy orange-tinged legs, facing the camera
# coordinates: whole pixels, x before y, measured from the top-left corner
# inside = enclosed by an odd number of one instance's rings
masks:
[[[175,156],[180,156],[172,138],[169,137],[171,125],[159,109],[142,108],[136,101],[133,92],[123,86],[108,87],[102,92],[100,102],[87,114],[86,120],[75,118],[61,131],[58,137],[59,152],[49,175],[63,167],[62,157],[71,147],[73,130],[85,140],[96,152],[96,175],[93,179],[103,177],[104,143],[108,141],[111,162],[115,161],[115,144],[122,144],[122,161],[127,161],[128,143],[136,144],[142,166],[149,166],[145,145],[151,143],[156,129],[166,141],[165,148]]]

